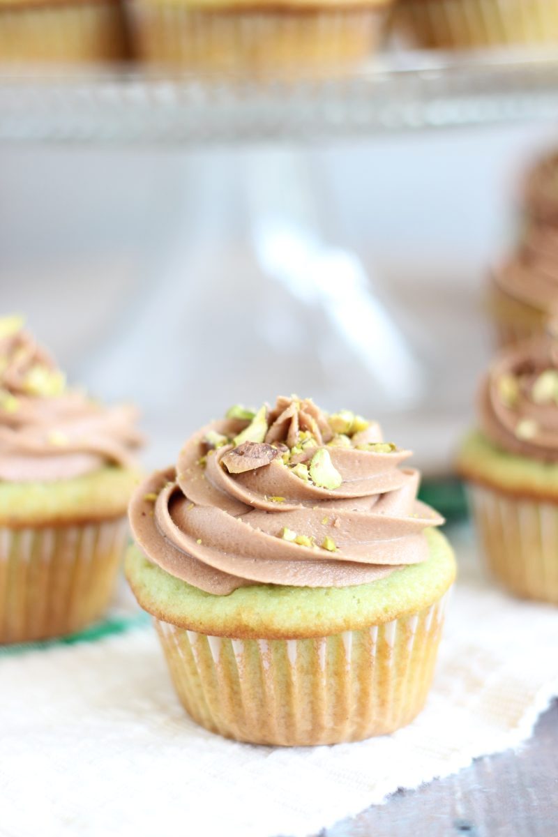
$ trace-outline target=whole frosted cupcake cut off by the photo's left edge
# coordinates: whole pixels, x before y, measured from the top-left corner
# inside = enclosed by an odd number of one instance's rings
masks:
[[[0,320],[0,643],[105,612],[138,479],[135,419],[68,388],[22,321]]]

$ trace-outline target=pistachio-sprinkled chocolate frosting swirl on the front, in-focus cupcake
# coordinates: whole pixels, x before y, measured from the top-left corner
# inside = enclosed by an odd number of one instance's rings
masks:
[[[207,593],[255,583],[347,587],[428,557],[443,519],[417,501],[408,450],[377,424],[327,415],[310,399],[235,407],[132,497],[138,546]]]

